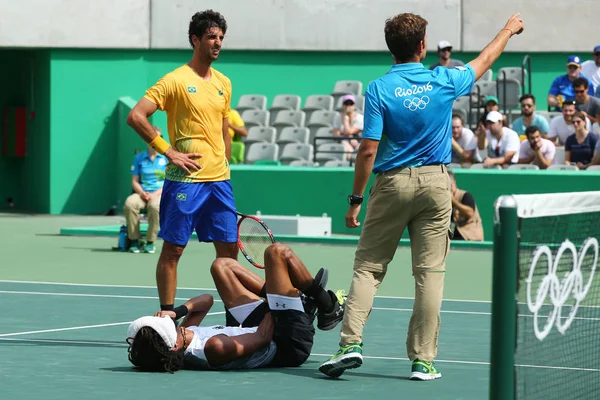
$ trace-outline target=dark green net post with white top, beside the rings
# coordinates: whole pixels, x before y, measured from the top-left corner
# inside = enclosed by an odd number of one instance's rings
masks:
[[[490,399],[514,400],[519,219],[512,196],[498,198],[495,208]]]

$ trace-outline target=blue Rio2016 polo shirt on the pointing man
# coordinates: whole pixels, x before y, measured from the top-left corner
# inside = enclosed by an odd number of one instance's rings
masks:
[[[470,65],[426,69],[396,64],[365,93],[363,139],[379,141],[373,172],[448,164],[452,159],[452,104],[471,93]]]

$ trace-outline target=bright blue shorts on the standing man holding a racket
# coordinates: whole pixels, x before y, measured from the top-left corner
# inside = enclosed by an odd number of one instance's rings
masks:
[[[237,242],[237,214],[228,180],[197,183],[165,180],[158,236],[185,246],[194,229],[200,242]]]

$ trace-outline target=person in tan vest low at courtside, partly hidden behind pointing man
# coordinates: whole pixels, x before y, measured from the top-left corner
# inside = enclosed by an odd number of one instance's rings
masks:
[[[475,198],[471,193],[456,187],[456,177],[452,171],[448,171],[448,175],[452,184],[452,240],[483,241],[483,225]]]

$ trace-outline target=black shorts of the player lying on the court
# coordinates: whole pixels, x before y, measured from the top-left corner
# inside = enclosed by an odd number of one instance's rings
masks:
[[[272,367],[299,367],[310,356],[315,327],[308,314],[297,310],[271,311],[275,323],[273,341],[277,353]]]

